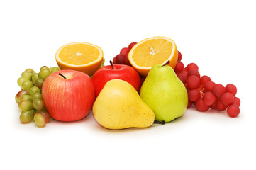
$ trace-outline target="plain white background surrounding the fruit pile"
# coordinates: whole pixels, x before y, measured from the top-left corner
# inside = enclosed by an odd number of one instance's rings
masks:
[[[0,169],[256,169],[253,1],[1,1]],[[106,130],[89,114],[45,128],[21,124],[14,96],[27,68],[57,66],[55,52],[90,42],[106,61],[130,42],[172,38],[185,65],[233,83],[240,115],[201,113],[145,129]]]

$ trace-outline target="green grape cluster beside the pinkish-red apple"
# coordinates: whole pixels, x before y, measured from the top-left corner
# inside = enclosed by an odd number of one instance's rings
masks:
[[[29,123],[34,120],[35,125],[44,127],[50,121],[50,115],[45,109],[42,98],[43,81],[53,72],[59,71],[59,67],[40,68],[40,72],[36,73],[33,69],[26,69],[18,78],[18,86],[21,87],[15,100],[18,108],[21,109],[21,123]]]

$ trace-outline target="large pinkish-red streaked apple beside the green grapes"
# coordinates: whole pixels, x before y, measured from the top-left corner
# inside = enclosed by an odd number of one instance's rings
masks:
[[[83,72],[60,70],[45,79],[42,96],[52,118],[65,122],[76,121],[91,110],[95,101],[94,84]]]

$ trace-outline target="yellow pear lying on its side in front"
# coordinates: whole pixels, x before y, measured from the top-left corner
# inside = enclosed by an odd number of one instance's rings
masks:
[[[121,79],[108,81],[92,108],[94,118],[104,128],[147,128],[155,114],[132,85]]]

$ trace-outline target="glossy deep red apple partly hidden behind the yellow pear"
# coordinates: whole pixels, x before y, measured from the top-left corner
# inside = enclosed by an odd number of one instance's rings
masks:
[[[94,89],[96,97],[103,89],[106,82],[111,79],[121,79],[129,84],[131,84],[136,91],[140,91],[140,74],[133,68],[128,65],[123,64],[113,64],[113,68],[111,65],[107,65],[98,69],[91,80],[94,82]]]

